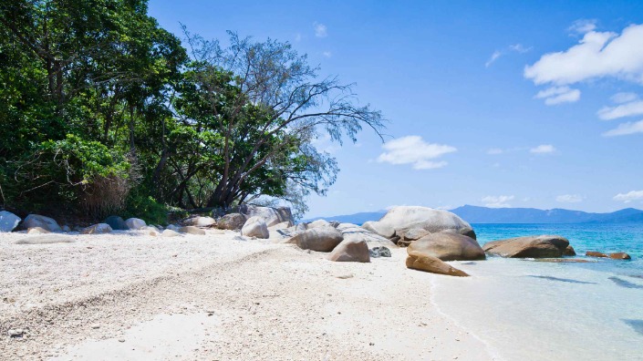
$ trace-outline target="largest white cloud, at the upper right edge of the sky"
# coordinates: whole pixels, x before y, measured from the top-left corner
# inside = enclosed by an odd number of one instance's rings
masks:
[[[524,67],[524,77],[535,85],[564,86],[581,81],[616,77],[643,84],[643,25],[627,26],[618,35],[596,32],[592,26],[579,44],[542,56]]]

